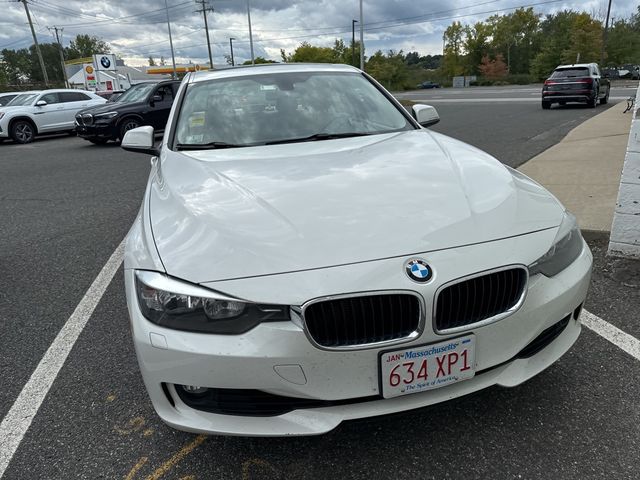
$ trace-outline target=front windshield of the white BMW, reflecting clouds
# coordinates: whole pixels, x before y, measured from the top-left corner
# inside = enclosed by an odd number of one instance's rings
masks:
[[[176,147],[270,145],[414,128],[359,73],[267,73],[189,85]]]

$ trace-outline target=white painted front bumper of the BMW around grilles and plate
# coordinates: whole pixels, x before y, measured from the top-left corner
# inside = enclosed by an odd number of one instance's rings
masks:
[[[548,245],[554,231],[507,239],[499,242],[475,245],[460,249],[429,254],[432,265],[442,265],[438,278],[432,284],[413,284],[424,298],[427,311],[433,302],[433,292],[438,285],[450,278],[461,276],[466,269],[475,271],[496,265],[500,261],[514,263],[517,252],[527,251],[527,246]],[[523,250],[524,249],[524,250]],[[532,250],[531,257],[539,256]],[[542,252],[544,253],[544,252]],[[513,257],[513,258],[509,258]],[[535,258],[526,259],[531,263]],[[472,260],[473,259],[473,260]],[[461,261],[463,260],[463,261]],[[518,385],[541,372],[560,358],[575,342],[580,324],[573,312],[582,304],[591,275],[591,253],[584,244],[579,258],[553,278],[536,275],[530,279],[526,300],[520,310],[496,323],[470,328],[476,336],[476,370],[474,378],[428,392],[392,399],[382,399],[378,384],[378,351],[327,351],[314,347],[301,328],[294,322],[264,323],[237,336],[194,334],[158,327],[140,313],[134,291],[134,270],[125,271],[125,281],[131,316],[134,344],[142,376],[159,416],[169,425],[191,432],[219,433],[227,435],[313,435],[335,428],[344,420],[384,415],[423,407],[477,390],[501,385]],[[473,263],[473,265],[469,265]],[[400,271],[398,259],[371,262],[371,268],[380,275],[376,285],[367,289],[379,290],[384,285],[397,288],[397,282],[405,280],[403,272],[397,278],[388,271]],[[346,290],[341,283],[353,281],[349,267],[338,267],[316,272],[301,272],[268,278],[274,295],[303,295],[307,288],[323,296],[331,288]],[[307,277],[306,282],[300,275]],[[359,274],[357,276],[360,276]],[[345,280],[345,278],[347,280]],[[364,275],[362,276],[364,278]],[[217,289],[226,284],[226,293],[238,295],[244,290],[258,298],[258,284],[265,279],[245,279],[218,282]],[[243,287],[244,284],[244,287]],[[382,285],[384,284],[384,285]],[[288,285],[288,287],[285,287]],[[313,287],[315,285],[315,287]],[[291,294],[281,287],[300,293]],[[405,286],[405,285],[403,285]],[[351,290],[353,291],[353,290]],[[278,292],[276,294],[276,292]],[[335,293],[335,290],[333,290]],[[238,295],[240,296],[240,295]],[[291,304],[299,304],[291,298]],[[276,300],[280,303],[280,299]],[[567,326],[544,349],[528,358],[517,356],[539,335],[570,316]],[[420,345],[440,342],[455,335],[438,335],[427,322],[422,335],[404,344]],[[388,347],[386,348],[388,349]],[[283,368],[284,367],[284,368]],[[187,406],[177,394],[174,385],[197,385],[217,389],[251,389],[273,395],[334,401],[337,405],[321,408],[301,408],[281,415],[252,416],[226,415],[196,410]],[[365,401],[363,401],[363,398]],[[350,403],[349,400],[354,403]]]

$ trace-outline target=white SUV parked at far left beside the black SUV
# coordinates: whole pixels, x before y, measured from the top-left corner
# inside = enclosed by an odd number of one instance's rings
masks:
[[[0,108],[0,139],[29,143],[40,134],[73,132],[76,112],[105,103],[92,92],[57,89],[26,92]]]

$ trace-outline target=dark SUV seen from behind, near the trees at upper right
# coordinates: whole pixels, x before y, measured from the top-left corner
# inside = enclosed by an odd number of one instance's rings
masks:
[[[548,110],[553,103],[565,105],[580,102],[595,108],[609,101],[611,82],[600,75],[596,63],[559,65],[542,87],[542,108]]]

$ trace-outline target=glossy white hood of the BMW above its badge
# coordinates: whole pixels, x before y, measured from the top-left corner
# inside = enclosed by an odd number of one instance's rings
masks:
[[[488,242],[559,225],[546,190],[427,130],[165,149],[149,208],[167,273],[196,283]]]

